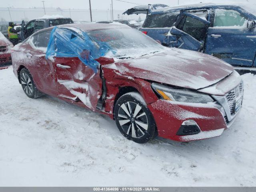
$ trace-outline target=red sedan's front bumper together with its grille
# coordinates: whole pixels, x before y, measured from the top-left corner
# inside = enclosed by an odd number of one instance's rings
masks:
[[[176,141],[201,140],[220,136],[226,128],[231,126],[241,110],[243,82],[240,82],[236,88],[224,96],[212,96],[216,102],[209,104],[167,100],[158,100],[149,104],[148,108],[154,116],[158,135]],[[241,101],[238,109],[234,105],[237,101]],[[195,125],[199,130],[195,134],[180,134],[180,129],[186,121],[195,122],[188,130],[193,132]]]

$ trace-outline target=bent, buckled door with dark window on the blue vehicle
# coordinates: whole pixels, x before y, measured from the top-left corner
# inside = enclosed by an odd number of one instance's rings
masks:
[[[166,36],[164,44],[170,47],[201,51],[204,48],[209,27],[210,22],[207,20],[182,12]]]

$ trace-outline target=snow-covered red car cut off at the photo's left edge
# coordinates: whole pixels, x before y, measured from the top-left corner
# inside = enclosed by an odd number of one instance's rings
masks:
[[[12,43],[0,32],[0,65],[12,62],[10,49]]]

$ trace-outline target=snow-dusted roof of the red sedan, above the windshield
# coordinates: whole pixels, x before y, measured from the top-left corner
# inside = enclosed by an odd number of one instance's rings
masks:
[[[131,28],[128,25],[114,24],[114,23],[109,23],[109,24],[105,24],[105,23],[74,23],[74,24],[59,25],[59,27],[77,28],[84,32],[94,31],[94,30],[108,30],[108,29],[116,29],[116,28],[119,28],[119,29],[120,28]],[[44,28],[42,30],[39,30],[38,32],[50,30],[52,28],[54,28],[54,27]],[[36,33],[38,33],[38,32],[36,32]]]

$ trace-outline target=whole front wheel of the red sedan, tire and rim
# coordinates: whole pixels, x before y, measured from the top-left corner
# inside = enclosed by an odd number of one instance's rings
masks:
[[[142,96],[137,92],[121,96],[114,108],[120,132],[128,140],[146,143],[156,136],[156,123]]]

